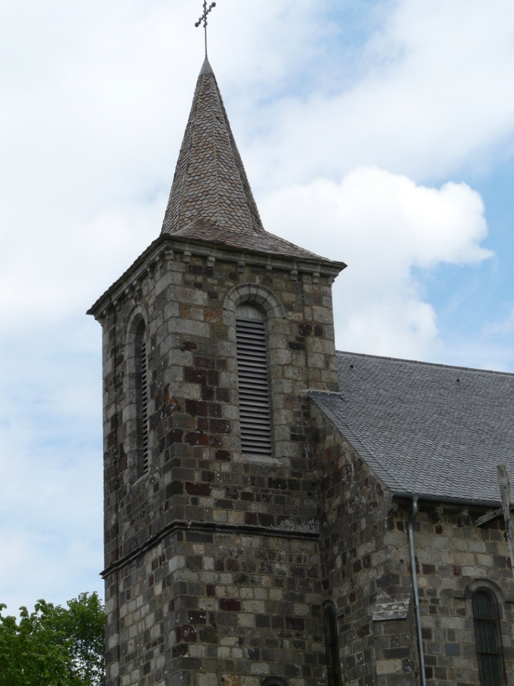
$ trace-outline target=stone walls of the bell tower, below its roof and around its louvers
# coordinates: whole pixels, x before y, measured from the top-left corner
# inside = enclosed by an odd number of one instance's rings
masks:
[[[337,389],[332,276],[173,245],[141,259],[99,315],[108,684],[119,672],[142,686],[257,686],[276,673],[318,685],[325,652],[306,391]],[[244,301],[266,315],[268,460],[240,448],[235,307]],[[127,333],[136,315],[148,329],[151,397],[150,467],[139,478]]]

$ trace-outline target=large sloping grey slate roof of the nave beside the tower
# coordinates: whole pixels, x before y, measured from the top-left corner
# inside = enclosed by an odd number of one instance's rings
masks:
[[[501,504],[514,374],[340,352],[337,370],[339,394],[309,395],[391,491]]]

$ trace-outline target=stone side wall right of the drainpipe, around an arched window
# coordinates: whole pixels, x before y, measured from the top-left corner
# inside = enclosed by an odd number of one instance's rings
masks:
[[[514,580],[503,518],[482,528],[485,510],[421,503],[414,523],[427,684],[479,684],[472,590],[482,586],[499,599],[507,683],[514,683]],[[387,522],[388,545],[400,550],[407,503]]]

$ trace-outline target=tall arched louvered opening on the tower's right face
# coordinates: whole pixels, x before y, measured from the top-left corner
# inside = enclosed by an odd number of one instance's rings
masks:
[[[244,455],[269,457],[272,454],[270,389],[262,312],[247,303],[239,305],[236,336],[241,449]]]

